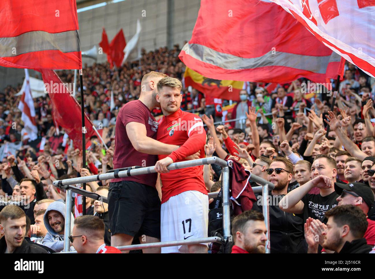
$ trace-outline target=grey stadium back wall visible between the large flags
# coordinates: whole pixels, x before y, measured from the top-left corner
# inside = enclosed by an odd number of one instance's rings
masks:
[[[191,38],[199,6],[200,0],[126,0],[80,12],[78,23],[81,49],[86,51],[94,45],[99,47],[103,27],[109,42],[121,28],[128,42],[135,34],[138,18],[142,25],[141,48],[150,51],[161,46],[171,47],[175,43],[182,47],[183,42]],[[145,16],[142,16],[143,10]],[[98,63],[105,61],[107,55],[98,55]],[[83,58],[83,63],[90,65],[93,60]],[[23,77],[23,69],[0,67],[0,91],[7,84],[22,83]]]

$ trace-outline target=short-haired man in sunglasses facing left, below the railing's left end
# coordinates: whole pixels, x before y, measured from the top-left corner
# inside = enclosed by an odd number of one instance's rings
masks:
[[[117,248],[104,243],[104,222],[98,216],[78,216],[69,240],[77,253],[120,254]]]

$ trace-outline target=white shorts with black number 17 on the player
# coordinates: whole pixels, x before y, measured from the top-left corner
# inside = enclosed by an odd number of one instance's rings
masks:
[[[208,196],[199,191],[185,191],[161,205],[161,241],[207,237]],[[207,243],[202,243],[208,246]],[[187,245],[162,247],[162,253],[189,253]]]

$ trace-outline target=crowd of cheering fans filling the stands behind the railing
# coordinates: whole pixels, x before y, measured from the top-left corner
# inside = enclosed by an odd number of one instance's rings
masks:
[[[52,182],[114,168],[115,123],[120,108],[139,98],[142,76],[150,71],[182,81],[185,66],[179,52],[178,45],[170,50],[142,51],[140,65],[125,64],[117,71],[108,63],[85,65],[85,112],[96,127],[103,129],[108,146],[106,150],[93,136],[86,154],[87,166],[83,166],[82,152],[69,147],[69,142],[55,149],[50,145],[48,139],[57,134],[57,129],[48,95],[34,100],[38,138],[47,139],[43,148],[36,148],[24,137],[17,109],[20,97],[15,95],[20,86],[3,90],[0,142],[21,141],[23,145],[17,154],[2,158],[0,166],[0,252],[63,250],[66,196]],[[226,116],[228,120],[243,120],[223,125],[214,124],[221,116],[212,106],[205,106],[202,93],[181,90],[181,109],[193,110],[205,124],[206,157],[237,162],[275,185],[269,193],[271,253],[368,253],[375,245],[375,80],[353,64],[347,63],[346,69],[332,111],[333,96],[304,92],[301,84],[306,79],[279,85],[273,92],[246,82],[235,98],[236,106]],[[63,82],[74,82],[71,71],[57,74]],[[80,95],[76,97],[80,102]],[[159,108],[152,113],[156,119],[162,114]],[[207,191],[220,192],[220,167],[206,165],[203,170]],[[90,182],[86,187],[107,197],[109,184],[109,180]],[[250,179],[249,187],[257,185]],[[261,213],[262,199],[258,194],[255,198],[252,210],[237,216],[233,213],[234,241],[221,247],[211,245],[211,252],[265,251],[267,228]],[[216,200],[210,200],[211,210]],[[20,221],[23,219],[25,222]],[[71,249],[82,253],[119,252],[110,246],[109,224],[108,204],[86,198],[86,215],[74,219],[72,214]],[[208,227],[209,234],[210,230]]]

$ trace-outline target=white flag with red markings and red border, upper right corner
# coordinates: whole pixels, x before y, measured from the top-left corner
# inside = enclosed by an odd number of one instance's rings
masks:
[[[330,49],[375,76],[374,0],[272,0]]]

